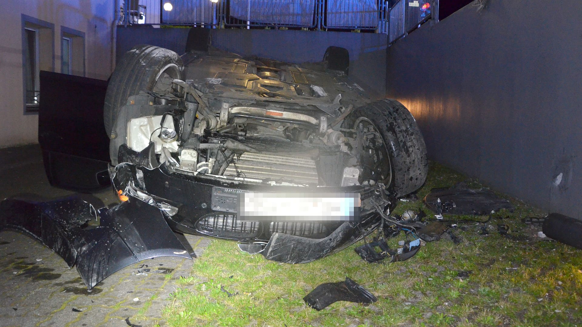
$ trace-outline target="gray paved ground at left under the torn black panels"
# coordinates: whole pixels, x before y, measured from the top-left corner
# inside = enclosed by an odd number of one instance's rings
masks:
[[[0,200],[79,196],[96,208],[118,201],[108,188],[78,194],[52,187],[38,145],[0,149],[0,181]],[[177,236],[197,257],[210,243],[207,237]],[[164,325],[162,309],[171,301],[174,281],[188,275],[191,264],[178,257],[144,260],[88,291],[77,270],[51,249],[22,233],[1,230],[0,326],[127,326],[126,318],[144,327]]]

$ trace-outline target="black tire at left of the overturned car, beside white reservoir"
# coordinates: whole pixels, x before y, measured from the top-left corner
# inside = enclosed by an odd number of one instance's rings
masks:
[[[183,70],[182,59],[171,50],[141,44],[127,51],[113,70],[105,93],[103,120],[109,138],[119,108],[126,104],[130,95],[153,90],[162,73],[183,79]]]

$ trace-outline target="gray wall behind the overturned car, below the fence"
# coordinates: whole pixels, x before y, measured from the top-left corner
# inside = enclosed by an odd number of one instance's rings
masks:
[[[118,27],[117,58],[136,44],[158,45],[183,54],[188,31],[151,26]],[[386,34],[217,29],[211,35],[214,47],[294,63],[318,62],[330,45],[343,47],[350,53],[350,77],[374,93],[385,93]]]

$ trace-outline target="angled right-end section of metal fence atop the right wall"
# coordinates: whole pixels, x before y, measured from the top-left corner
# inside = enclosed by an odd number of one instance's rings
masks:
[[[438,22],[438,0],[400,0],[390,9],[388,43],[433,20]]]

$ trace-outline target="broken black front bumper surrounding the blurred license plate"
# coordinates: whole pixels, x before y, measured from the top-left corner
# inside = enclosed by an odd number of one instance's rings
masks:
[[[147,169],[132,163],[121,163],[111,166],[109,171],[115,190],[129,194],[139,191],[147,194],[150,202],[178,208],[175,214],[166,215],[166,221],[173,230],[254,244],[253,252],[261,253],[269,260],[288,263],[317,260],[355,243],[381,222],[377,212],[362,208],[359,208],[359,217],[354,221],[240,221],[233,212],[217,210],[212,198],[217,188],[267,193],[293,193],[300,188],[306,192],[359,193],[365,201],[377,196],[378,189],[373,187],[262,186],[200,175],[188,176],[173,172],[166,165]]]

